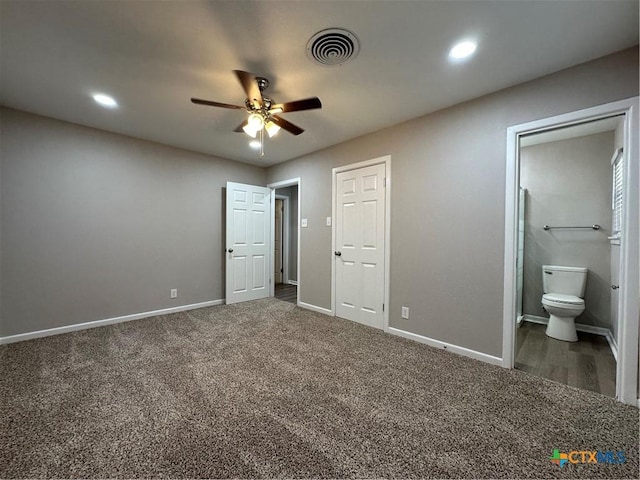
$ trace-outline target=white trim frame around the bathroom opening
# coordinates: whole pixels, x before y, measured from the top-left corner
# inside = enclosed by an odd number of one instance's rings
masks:
[[[502,366],[514,368],[516,348],[516,256],[518,251],[518,187],[520,137],[616,115],[624,115],[625,172],[620,251],[620,304],[616,398],[640,407],[638,398],[638,323],[640,322],[640,162],[638,144],[639,97],[514,125],[507,129],[505,181],[505,249]]]

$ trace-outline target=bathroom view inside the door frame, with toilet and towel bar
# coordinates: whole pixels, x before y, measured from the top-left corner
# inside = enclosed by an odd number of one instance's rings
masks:
[[[624,116],[520,138],[515,368],[616,394]],[[618,163],[616,163],[618,162]],[[619,180],[622,180],[620,178]],[[622,186],[622,182],[619,182]]]

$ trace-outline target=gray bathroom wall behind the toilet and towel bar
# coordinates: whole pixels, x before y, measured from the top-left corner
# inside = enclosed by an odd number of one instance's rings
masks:
[[[541,305],[542,265],[589,269],[585,311],[576,322],[607,329],[611,322],[611,156],[614,132],[524,147],[520,186],[527,189],[524,313],[548,317]],[[593,225],[600,230],[543,230],[544,225]]]

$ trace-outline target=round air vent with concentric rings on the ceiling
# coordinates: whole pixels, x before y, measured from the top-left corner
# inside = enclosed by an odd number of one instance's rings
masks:
[[[307,56],[325,66],[342,65],[360,51],[358,38],[342,28],[321,30],[309,39]]]

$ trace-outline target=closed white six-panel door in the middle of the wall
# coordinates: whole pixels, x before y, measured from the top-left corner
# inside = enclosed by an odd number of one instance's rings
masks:
[[[336,175],[336,315],[383,328],[384,164]]]

